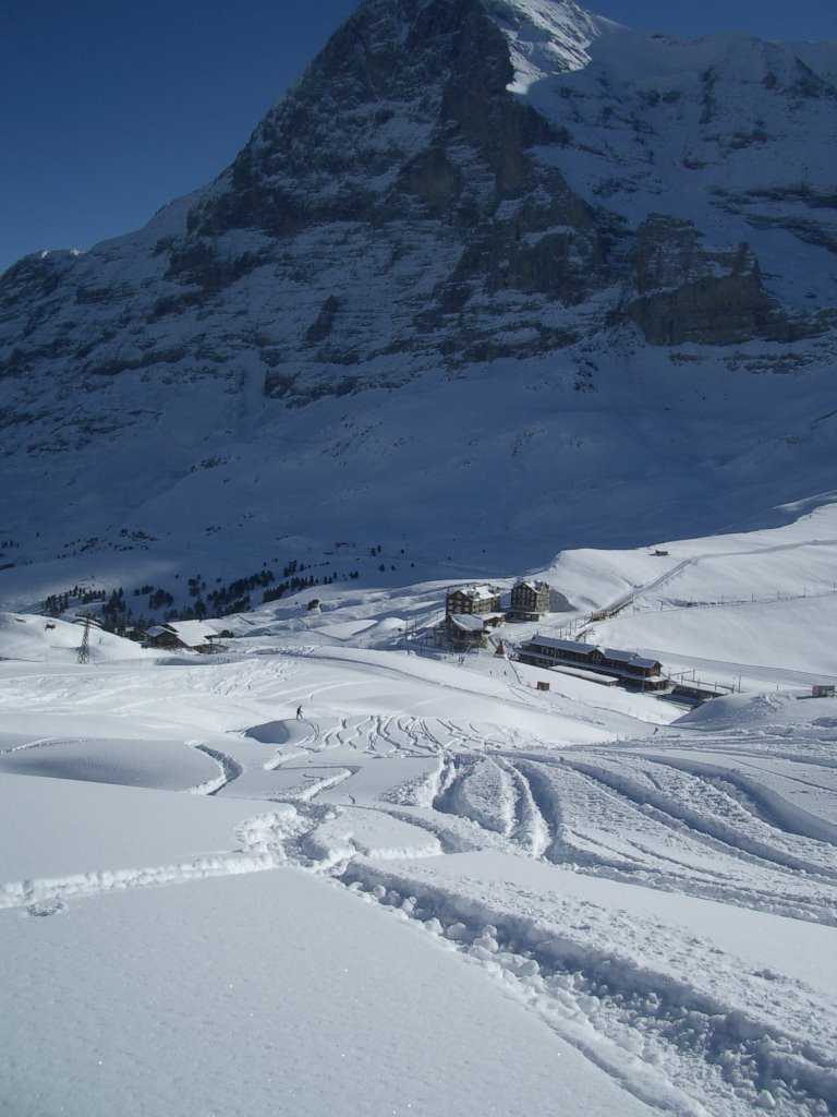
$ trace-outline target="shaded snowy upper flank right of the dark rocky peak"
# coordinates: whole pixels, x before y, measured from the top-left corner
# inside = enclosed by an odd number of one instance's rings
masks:
[[[741,34],[622,31],[590,51],[589,66],[532,92],[569,132],[545,157],[632,226],[665,213],[692,222],[712,249],[745,242],[783,303],[830,305],[829,71],[811,69],[797,45]]]

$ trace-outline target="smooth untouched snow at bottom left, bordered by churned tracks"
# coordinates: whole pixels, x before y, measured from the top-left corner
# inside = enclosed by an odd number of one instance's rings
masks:
[[[305,872],[0,913],[0,939],[15,1117],[647,1113],[479,972]]]

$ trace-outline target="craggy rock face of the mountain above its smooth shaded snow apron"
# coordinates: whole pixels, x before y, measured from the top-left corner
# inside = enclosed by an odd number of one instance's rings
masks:
[[[816,365],[836,54],[570,0],[364,0],[215,182],[0,278],[6,452],[124,448],[198,397],[234,442],[499,360],[555,355],[589,391],[643,344]]]

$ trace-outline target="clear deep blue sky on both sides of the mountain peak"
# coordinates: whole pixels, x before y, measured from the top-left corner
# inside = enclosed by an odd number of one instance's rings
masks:
[[[0,270],[138,228],[233,159],[358,0],[27,0],[0,15]],[[599,0],[673,35],[837,37],[836,0]]]

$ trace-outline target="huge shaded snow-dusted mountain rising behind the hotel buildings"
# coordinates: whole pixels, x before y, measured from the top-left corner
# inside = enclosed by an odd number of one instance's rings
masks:
[[[364,0],[213,183],[0,279],[2,561],[511,569],[834,489],[836,83],[835,44]]]

